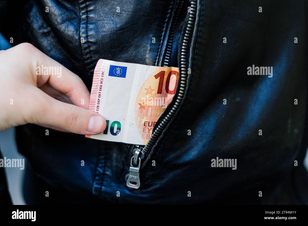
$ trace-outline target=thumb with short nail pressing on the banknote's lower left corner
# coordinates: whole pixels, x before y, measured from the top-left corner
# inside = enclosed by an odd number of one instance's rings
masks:
[[[94,135],[106,128],[106,120],[93,111],[58,101],[41,93],[42,101],[32,114],[30,123],[55,126],[72,133]]]

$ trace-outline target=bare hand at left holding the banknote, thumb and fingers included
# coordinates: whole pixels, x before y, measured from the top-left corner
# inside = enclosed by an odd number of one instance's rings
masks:
[[[53,70],[44,75],[41,65]],[[0,96],[0,131],[35,123],[94,135],[106,127],[88,110],[90,93],[81,78],[29,43],[0,51]]]

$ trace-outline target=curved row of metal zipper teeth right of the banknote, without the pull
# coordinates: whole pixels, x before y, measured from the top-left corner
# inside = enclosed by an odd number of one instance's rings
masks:
[[[143,148],[143,152],[147,153],[149,150],[149,147],[154,143],[156,137],[160,134],[161,130],[164,129],[164,127],[167,125],[167,123],[170,121],[174,113],[176,112],[176,109],[178,109],[181,101],[183,100],[184,91],[186,87],[186,51],[188,46],[188,39],[190,37],[190,34],[193,30],[193,22],[195,18],[195,11],[196,11],[196,0],[191,1],[190,5],[190,12],[189,12],[189,18],[188,18],[188,25],[186,27],[186,31],[184,34],[183,42],[182,42],[182,48],[181,48],[181,62],[180,62],[180,69],[181,69],[181,76],[180,76],[180,90],[179,94],[176,97],[176,102],[173,105],[170,112],[167,114],[167,116],[163,119],[163,121],[160,122],[158,127],[155,129],[155,131],[152,133],[152,136],[148,140],[147,144]]]

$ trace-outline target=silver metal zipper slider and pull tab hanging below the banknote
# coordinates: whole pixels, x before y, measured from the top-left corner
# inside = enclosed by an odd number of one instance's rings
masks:
[[[131,158],[131,166],[129,167],[129,176],[127,178],[126,185],[129,188],[140,187],[140,166],[141,160],[144,158],[142,147],[133,150],[133,156]]]

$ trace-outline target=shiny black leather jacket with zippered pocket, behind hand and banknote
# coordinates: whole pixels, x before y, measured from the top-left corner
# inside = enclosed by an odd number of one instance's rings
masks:
[[[18,127],[43,190],[98,203],[308,204],[306,1],[0,2],[7,39],[32,43],[89,90],[100,58],[180,68],[139,189],[125,180],[133,144]],[[272,66],[273,77],[248,75],[252,65]],[[217,157],[237,159],[237,169],[212,167]]]

